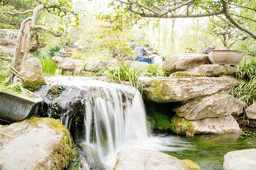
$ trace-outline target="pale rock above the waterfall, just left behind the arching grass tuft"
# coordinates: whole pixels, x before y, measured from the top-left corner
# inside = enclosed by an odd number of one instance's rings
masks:
[[[88,72],[94,72],[94,71],[99,71],[101,69],[105,69],[108,67],[108,62],[103,61],[103,60],[94,60],[91,59],[90,61],[87,62],[87,65],[85,66],[85,71]]]

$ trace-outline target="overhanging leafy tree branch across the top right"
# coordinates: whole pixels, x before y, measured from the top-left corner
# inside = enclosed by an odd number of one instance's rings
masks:
[[[255,0],[113,0],[111,4],[117,10],[128,13],[119,15],[126,17],[129,23],[135,23],[141,17],[159,20],[217,16],[246,36],[256,39]],[[120,17],[116,21],[123,24]]]

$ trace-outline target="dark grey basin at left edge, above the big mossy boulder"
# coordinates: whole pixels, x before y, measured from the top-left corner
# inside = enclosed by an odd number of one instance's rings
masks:
[[[0,89],[0,120],[18,122],[31,116],[37,105],[44,101],[39,96],[35,99],[25,98]]]

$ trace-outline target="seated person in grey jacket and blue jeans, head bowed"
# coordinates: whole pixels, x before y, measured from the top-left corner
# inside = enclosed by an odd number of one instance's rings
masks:
[[[154,59],[155,54],[153,54],[152,56],[148,56],[147,51],[149,50],[150,45],[144,44],[142,47],[137,47],[136,48],[136,53],[137,53],[137,60],[136,62],[146,62],[149,64],[152,64],[152,59]]]

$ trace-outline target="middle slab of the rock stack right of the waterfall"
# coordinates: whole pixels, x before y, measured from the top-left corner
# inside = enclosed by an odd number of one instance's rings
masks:
[[[186,101],[175,108],[180,117],[197,120],[206,117],[224,117],[229,114],[238,115],[243,111],[244,102],[227,94],[212,94]]]

